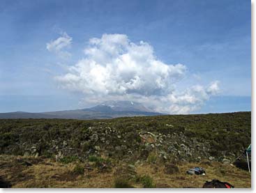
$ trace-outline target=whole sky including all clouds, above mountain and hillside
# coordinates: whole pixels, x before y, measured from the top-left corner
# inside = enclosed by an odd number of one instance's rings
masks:
[[[0,112],[251,110],[250,1],[1,1]]]

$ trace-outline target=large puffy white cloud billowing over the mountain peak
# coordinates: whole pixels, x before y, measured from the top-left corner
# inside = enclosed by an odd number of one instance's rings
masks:
[[[133,43],[123,34],[91,38],[84,54],[84,59],[56,79],[62,88],[84,93],[86,102],[134,100],[156,111],[188,114],[219,90],[219,83],[213,82],[176,91],[176,84],[186,75],[186,65],[164,63],[149,43]]]

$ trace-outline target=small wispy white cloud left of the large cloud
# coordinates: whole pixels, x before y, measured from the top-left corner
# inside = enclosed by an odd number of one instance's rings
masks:
[[[50,41],[50,43],[46,44],[46,49],[49,52],[54,52],[61,57],[68,57],[70,53],[65,51],[66,47],[69,47],[72,43],[72,39],[66,32],[61,33],[61,37],[57,38],[56,40]]]

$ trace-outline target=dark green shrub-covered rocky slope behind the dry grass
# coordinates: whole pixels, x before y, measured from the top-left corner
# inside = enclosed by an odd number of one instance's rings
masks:
[[[98,162],[111,172],[120,163],[176,163],[181,168],[212,162],[217,169],[218,162],[232,162],[243,153],[251,141],[250,127],[250,112],[91,121],[2,119],[0,154],[66,164]]]

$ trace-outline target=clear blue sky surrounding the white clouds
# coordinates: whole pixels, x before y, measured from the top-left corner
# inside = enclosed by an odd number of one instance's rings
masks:
[[[251,109],[250,1],[1,1],[0,20],[0,112],[94,105],[89,102],[91,88],[68,89],[70,82],[60,83],[56,77],[64,77],[68,67],[88,57],[84,49],[92,46],[91,38],[103,41],[103,34],[117,33],[126,35],[129,43],[149,43],[153,55],[166,65],[186,66],[182,79],[167,84],[168,89],[175,87],[175,102],[188,93],[199,101],[186,113]],[[68,57],[46,47],[63,33],[72,38],[61,49]],[[219,91],[214,95],[203,99],[191,91],[195,85],[206,91],[216,81]],[[97,102],[106,98],[100,92],[93,95]],[[129,92],[128,98],[135,100],[138,92]],[[124,93],[107,95],[122,97],[127,98]],[[141,97],[158,104],[156,95]],[[186,102],[176,107],[192,104]]]

